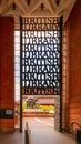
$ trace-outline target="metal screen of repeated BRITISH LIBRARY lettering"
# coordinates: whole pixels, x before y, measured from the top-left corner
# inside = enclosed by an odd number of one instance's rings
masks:
[[[21,93],[61,92],[61,19],[21,18]]]

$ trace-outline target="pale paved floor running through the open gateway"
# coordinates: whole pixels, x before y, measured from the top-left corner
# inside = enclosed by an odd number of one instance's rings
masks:
[[[73,135],[54,131],[53,117],[28,117],[23,119],[30,130],[31,144],[77,144]],[[23,133],[0,134],[0,144],[26,144]]]

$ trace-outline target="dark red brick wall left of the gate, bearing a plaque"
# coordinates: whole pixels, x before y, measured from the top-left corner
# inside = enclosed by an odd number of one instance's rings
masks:
[[[4,110],[14,109],[14,49],[13,18],[0,17],[0,131],[13,131],[14,119],[8,119]]]

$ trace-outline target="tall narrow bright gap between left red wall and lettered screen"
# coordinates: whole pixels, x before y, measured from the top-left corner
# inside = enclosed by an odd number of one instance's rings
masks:
[[[20,99],[20,31],[14,31],[14,99]]]

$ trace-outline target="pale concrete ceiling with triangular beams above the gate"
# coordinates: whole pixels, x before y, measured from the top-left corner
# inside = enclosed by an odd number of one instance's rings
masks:
[[[68,20],[77,0],[0,0],[0,16],[63,16]]]

